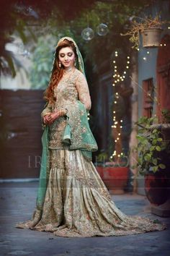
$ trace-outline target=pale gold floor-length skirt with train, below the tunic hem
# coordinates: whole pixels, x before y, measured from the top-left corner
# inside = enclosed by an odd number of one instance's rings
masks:
[[[112,201],[94,164],[81,150],[50,150],[50,176],[42,210],[17,228],[55,236],[122,236],[166,229],[165,223],[127,216]]]

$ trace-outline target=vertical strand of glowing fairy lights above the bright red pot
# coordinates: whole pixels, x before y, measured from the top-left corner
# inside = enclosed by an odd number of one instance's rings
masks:
[[[115,57],[118,57],[118,51],[115,51]],[[125,70],[124,72],[122,72],[122,74],[120,74],[120,72],[118,71],[117,68],[117,64],[116,64],[116,60],[114,59],[113,61],[113,70],[114,70],[114,74],[113,74],[113,82],[112,82],[112,86],[114,87],[114,90],[117,89],[117,87],[120,85],[121,82],[123,82],[126,78],[127,75],[127,71],[126,69],[129,69],[130,67],[130,56],[127,56],[127,60],[126,60],[126,65],[125,65]],[[119,97],[119,93],[116,91],[115,92],[115,101],[114,104],[117,104],[117,99],[120,98]],[[121,124],[121,125],[120,125]],[[112,129],[122,129],[122,119],[121,120],[117,120],[116,117],[116,111],[113,111],[113,125],[112,125]],[[115,147],[116,147],[116,143],[120,142],[121,140],[121,132],[118,133],[117,137],[115,138],[114,142],[115,142]],[[114,150],[114,153],[112,153],[112,155],[110,156],[110,158],[113,157],[120,157],[120,155],[123,155],[123,153],[119,153],[116,150]]]

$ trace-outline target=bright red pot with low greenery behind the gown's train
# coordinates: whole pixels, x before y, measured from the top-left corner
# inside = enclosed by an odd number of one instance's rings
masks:
[[[107,153],[100,153],[96,158],[95,166],[110,194],[124,194],[128,183],[128,161],[120,157],[113,162]]]

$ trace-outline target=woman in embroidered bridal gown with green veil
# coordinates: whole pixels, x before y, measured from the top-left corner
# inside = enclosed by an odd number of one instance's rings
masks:
[[[87,121],[91,98],[81,53],[72,38],[58,42],[45,98],[36,208],[30,221],[16,227],[82,237],[166,229],[164,223],[122,213],[91,162],[91,152],[97,150]]]

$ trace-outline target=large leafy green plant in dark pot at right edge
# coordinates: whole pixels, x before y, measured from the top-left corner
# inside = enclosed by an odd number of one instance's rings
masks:
[[[137,123],[139,174],[145,176],[145,191],[148,200],[155,205],[161,205],[169,198],[169,168],[170,142],[164,133],[170,129],[170,124],[158,124],[156,117],[140,117]],[[166,136],[165,136],[166,134]]]

